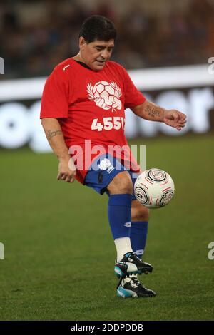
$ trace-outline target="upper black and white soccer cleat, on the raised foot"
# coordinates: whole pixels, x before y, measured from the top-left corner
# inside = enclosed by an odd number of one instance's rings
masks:
[[[153,272],[151,264],[141,261],[134,252],[127,252],[123,259],[117,262],[114,267],[114,273],[118,278],[126,277],[129,274],[148,274]]]

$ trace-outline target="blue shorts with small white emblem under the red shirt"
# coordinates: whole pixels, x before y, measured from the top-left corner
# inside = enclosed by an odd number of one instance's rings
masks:
[[[84,185],[93,188],[93,190],[96,190],[96,192],[101,195],[105,192],[109,195],[106,187],[121,171],[127,171],[130,174],[134,185],[137,177],[136,172],[127,170],[121,162],[112,155],[100,155],[93,160],[90,170],[88,170],[86,174]],[[132,195],[132,200],[136,200],[134,193]]]

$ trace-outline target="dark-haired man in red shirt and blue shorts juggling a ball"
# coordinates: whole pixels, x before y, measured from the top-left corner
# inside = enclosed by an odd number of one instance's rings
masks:
[[[91,16],[83,22],[79,53],[58,64],[46,81],[41,123],[58,157],[57,179],[76,179],[109,197],[118,297],[154,297],[156,293],[137,277],[153,267],[141,260],[148,209],[133,195],[133,172],[139,170],[124,135],[124,109],[177,130],[185,125],[185,115],[147,101],[126,70],[109,61],[115,40],[116,29],[105,17]]]

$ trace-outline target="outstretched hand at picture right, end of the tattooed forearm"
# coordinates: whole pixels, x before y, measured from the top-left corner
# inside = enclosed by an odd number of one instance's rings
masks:
[[[165,110],[163,113],[163,122],[177,130],[181,130],[185,127],[186,115],[175,109]]]

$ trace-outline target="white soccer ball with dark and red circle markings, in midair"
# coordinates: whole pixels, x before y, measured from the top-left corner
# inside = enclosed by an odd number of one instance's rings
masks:
[[[134,192],[141,205],[148,208],[160,208],[168,205],[172,200],[175,185],[167,172],[154,168],[138,175]]]

